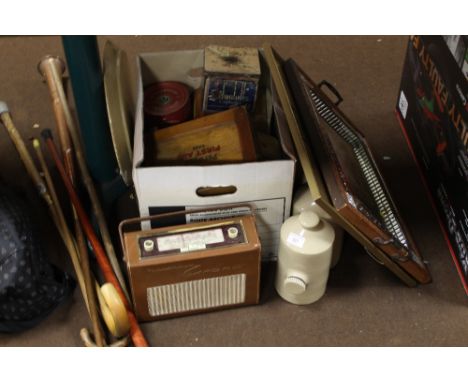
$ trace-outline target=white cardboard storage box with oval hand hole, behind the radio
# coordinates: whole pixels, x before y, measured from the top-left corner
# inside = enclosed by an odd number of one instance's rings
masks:
[[[279,117],[278,135],[286,159],[206,166],[144,166],[143,89],[156,81],[180,81],[192,88],[202,85],[203,50],[140,54],[133,150],[133,181],[140,216],[226,204],[250,204],[257,218],[262,259],[277,257],[279,231],[289,217],[295,158],[289,130]],[[263,63],[263,60],[262,60]],[[269,75],[266,65],[264,73]],[[273,107],[267,108],[273,113]],[[255,128],[255,127],[254,127]],[[235,186],[232,194],[199,196],[200,187]],[[189,214],[184,221],[210,220],[240,214],[244,208],[219,210],[209,214]],[[183,222],[184,222],[183,221]],[[183,223],[180,222],[180,223]],[[174,223],[174,222],[171,222]],[[143,229],[149,228],[149,223]]]

